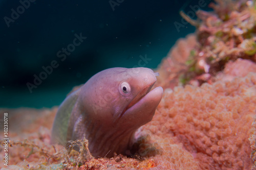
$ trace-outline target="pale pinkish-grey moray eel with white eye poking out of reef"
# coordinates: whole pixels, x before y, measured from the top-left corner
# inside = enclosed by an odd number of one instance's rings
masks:
[[[51,143],[89,141],[94,157],[127,154],[135,131],[150,122],[163,95],[152,69],[109,68],[98,72],[63,101],[56,113]]]

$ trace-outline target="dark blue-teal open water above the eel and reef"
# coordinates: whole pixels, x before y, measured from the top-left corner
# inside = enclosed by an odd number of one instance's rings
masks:
[[[100,70],[156,68],[177,39],[195,32],[177,23],[180,10],[198,3],[1,1],[0,107],[53,107]]]

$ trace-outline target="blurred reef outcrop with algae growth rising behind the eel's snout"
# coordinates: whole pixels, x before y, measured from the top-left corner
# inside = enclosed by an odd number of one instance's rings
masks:
[[[212,83],[228,61],[256,61],[255,1],[215,2],[210,4],[214,12],[197,12],[201,22],[196,33],[178,41],[163,59],[156,86]]]

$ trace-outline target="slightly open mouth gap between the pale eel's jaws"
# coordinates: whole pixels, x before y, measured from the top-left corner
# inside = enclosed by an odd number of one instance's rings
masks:
[[[138,103],[148,92],[151,91],[153,85],[156,83],[156,81],[146,85],[136,96],[135,98],[132,100],[132,102],[127,105],[127,107],[123,110],[122,114],[120,115],[120,117],[122,117],[122,115],[126,112],[126,110],[128,110],[129,108],[131,108],[132,106],[134,106],[136,103]]]

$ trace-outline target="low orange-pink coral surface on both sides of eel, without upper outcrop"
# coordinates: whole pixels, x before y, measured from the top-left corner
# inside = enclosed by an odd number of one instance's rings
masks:
[[[10,129],[10,164],[37,169],[249,169],[250,141],[255,150],[251,126],[255,110],[255,73],[201,87],[166,89],[152,122],[136,134],[139,138],[132,158],[119,155],[94,159],[88,156],[90,153],[84,158],[78,152],[49,144],[49,125],[56,108],[20,109],[25,119],[12,116],[10,124],[15,127],[26,122],[26,126]],[[17,110],[8,112],[11,115]],[[2,154],[3,149],[0,151]]]

